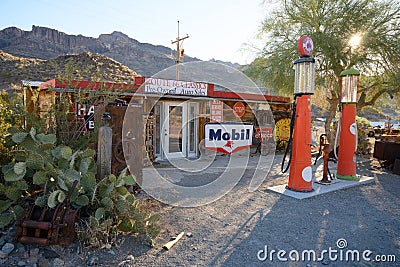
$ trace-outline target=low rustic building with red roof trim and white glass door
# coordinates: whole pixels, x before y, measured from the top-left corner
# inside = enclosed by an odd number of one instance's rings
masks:
[[[94,128],[96,117],[109,112],[113,166],[117,166],[113,171],[125,164],[122,128],[124,119],[132,116],[125,114],[132,106],[135,112],[129,123],[137,129],[133,151],[144,165],[168,158],[198,157],[204,124],[209,121],[249,122],[258,129],[260,139],[262,132],[272,135],[274,120],[288,118],[291,108],[287,97],[237,93],[204,82],[160,78],[135,77],[130,84],[53,79],[41,83],[35,92],[27,90],[26,83],[24,88],[31,111],[36,105],[39,112],[47,112],[62,95],[68,95],[74,102],[70,120],[83,132]],[[88,95],[96,96],[97,103],[88,103]]]

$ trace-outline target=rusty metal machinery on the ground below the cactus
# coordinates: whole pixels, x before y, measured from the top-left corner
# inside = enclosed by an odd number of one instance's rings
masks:
[[[70,205],[71,194],[78,181],[75,181],[66,199],[54,209],[41,208],[34,203],[25,209],[17,221],[14,242],[35,245],[70,245],[75,238],[75,223],[79,209]]]

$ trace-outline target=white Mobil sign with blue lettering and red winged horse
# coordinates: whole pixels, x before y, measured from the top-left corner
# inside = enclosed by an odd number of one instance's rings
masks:
[[[252,144],[253,125],[241,122],[210,122],[204,126],[204,147],[232,154]]]

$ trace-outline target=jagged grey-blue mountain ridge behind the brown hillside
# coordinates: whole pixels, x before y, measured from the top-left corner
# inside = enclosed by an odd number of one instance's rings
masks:
[[[32,26],[31,31],[16,27],[0,31],[0,50],[24,58],[52,59],[61,55],[91,52],[112,58],[143,76],[151,76],[173,66],[176,51],[161,45],[140,43],[124,33],[101,34],[98,38],[69,35],[54,29]],[[198,61],[185,55],[184,62]],[[232,67],[239,64],[224,62]]]

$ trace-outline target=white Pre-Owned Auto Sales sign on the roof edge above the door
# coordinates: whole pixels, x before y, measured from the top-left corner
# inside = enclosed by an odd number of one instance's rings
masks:
[[[146,78],[144,92],[150,94],[206,96],[207,83]]]

